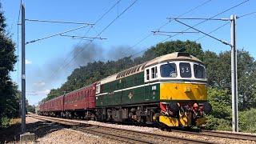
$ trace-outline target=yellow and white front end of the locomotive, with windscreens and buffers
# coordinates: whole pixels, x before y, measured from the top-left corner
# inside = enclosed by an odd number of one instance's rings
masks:
[[[187,53],[158,63],[159,122],[167,126],[202,126],[211,111],[204,64]]]

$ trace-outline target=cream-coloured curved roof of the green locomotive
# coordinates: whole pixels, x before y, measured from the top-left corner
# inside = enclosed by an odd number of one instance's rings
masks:
[[[196,62],[202,63],[201,60],[194,57],[193,55],[190,55],[189,53],[175,52],[175,53],[171,53],[171,54],[162,55],[158,58],[154,58],[154,59],[152,59],[148,62],[142,63],[138,66],[133,66],[129,69],[122,70],[118,74],[113,74],[107,78],[102,79],[100,82],[101,82],[101,84],[104,84],[107,82],[113,82],[114,80],[117,80],[120,78],[125,78],[125,77],[133,75],[133,74],[138,74],[138,73],[142,72],[145,69],[145,67],[151,66],[151,65],[159,63],[159,62],[164,62],[167,60],[189,60],[189,61],[196,61]]]

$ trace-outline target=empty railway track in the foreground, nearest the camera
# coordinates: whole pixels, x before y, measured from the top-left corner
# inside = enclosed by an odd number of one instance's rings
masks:
[[[72,125],[72,129],[80,130],[89,134],[95,134],[106,138],[113,138],[122,142],[129,143],[216,143],[210,141],[202,141],[198,139],[174,137],[170,135],[153,134],[135,130],[124,130],[109,126],[96,126],[90,124],[83,124],[82,122],[74,122],[70,119],[49,118],[37,115],[30,115],[30,117],[38,118],[50,122],[58,122],[65,125]]]

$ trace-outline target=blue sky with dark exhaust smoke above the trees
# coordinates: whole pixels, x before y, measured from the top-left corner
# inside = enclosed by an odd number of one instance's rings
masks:
[[[2,10],[6,17],[7,31],[16,43],[18,63],[11,78],[21,90],[21,15],[20,0],[2,0]],[[237,6],[238,4],[243,4]],[[159,42],[171,40],[195,41],[204,34],[154,35],[151,31],[183,31],[188,27],[167,18],[230,18],[256,11],[254,0],[22,0],[26,7],[26,19],[62,22],[86,22],[94,25],[64,24],[54,22],[26,21],[26,42],[46,38],[68,30],[85,26],[65,33],[66,35],[97,37],[94,41],[74,39],[57,35],[26,44],[26,98],[31,105],[37,105],[51,89],[66,82],[72,71],[87,62],[117,60],[124,56],[139,53]],[[235,7],[234,7],[235,6]],[[112,7],[112,9],[111,9]],[[234,8],[232,8],[234,7]],[[232,9],[230,9],[232,8]],[[229,10],[230,9],[230,10]],[[224,12],[225,11],[225,12]],[[223,12],[223,13],[222,13]],[[18,21],[19,19],[19,21]],[[226,21],[180,20],[205,33],[222,26],[211,33],[215,38],[230,42],[230,23]],[[227,23],[227,24],[226,24]],[[225,25],[226,26],[223,26]],[[249,51],[256,58],[255,37],[256,14],[237,19],[238,50]],[[187,30],[194,32],[195,30]],[[163,33],[162,33],[163,34]],[[102,39],[101,39],[102,38]],[[91,38],[90,38],[91,39]],[[196,42],[202,50],[219,54],[230,50],[214,38],[204,37]]]

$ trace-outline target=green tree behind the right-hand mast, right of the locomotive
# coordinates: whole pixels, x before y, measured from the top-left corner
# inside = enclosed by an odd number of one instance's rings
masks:
[[[204,53],[206,74],[210,86],[229,90],[231,94],[230,51]],[[245,50],[238,50],[238,109],[256,106],[256,62]]]

